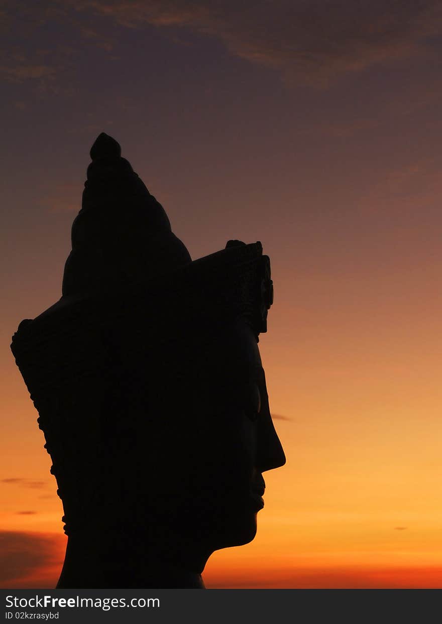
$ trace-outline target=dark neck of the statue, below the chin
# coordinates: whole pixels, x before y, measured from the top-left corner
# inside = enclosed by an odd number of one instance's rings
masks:
[[[144,536],[143,536],[144,537]],[[199,588],[210,553],[195,544],[102,536],[70,535],[57,589],[67,588]]]

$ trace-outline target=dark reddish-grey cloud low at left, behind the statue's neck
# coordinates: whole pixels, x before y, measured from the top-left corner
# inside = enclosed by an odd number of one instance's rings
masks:
[[[41,587],[47,568],[61,570],[58,535],[0,531],[0,587]]]

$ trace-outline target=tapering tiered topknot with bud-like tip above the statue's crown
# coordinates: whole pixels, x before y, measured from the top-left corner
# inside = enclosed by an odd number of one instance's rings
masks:
[[[91,147],[82,208],[72,223],[63,296],[119,290],[192,262],[162,205],[120,145],[102,132]]]

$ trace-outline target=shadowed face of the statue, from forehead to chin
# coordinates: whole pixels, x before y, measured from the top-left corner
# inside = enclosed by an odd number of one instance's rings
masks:
[[[176,388],[181,406],[165,399],[165,414],[161,406],[157,412],[169,426],[169,452],[162,458],[158,444],[158,455],[150,457],[159,468],[149,489],[170,494],[160,505],[162,525],[178,520],[175,532],[182,537],[193,533],[207,553],[255,537],[263,508],[262,473],[283,466],[285,456],[250,326],[237,321],[205,348],[209,353],[197,359],[207,359],[207,367],[199,374],[190,371]],[[192,384],[192,378],[197,382]]]

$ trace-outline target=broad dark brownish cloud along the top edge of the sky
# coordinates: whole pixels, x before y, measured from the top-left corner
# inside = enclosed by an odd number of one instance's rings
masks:
[[[315,85],[426,55],[442,13],[436,0],[94,0],[76,7],[129,28],[187,27],[288,82]]]

